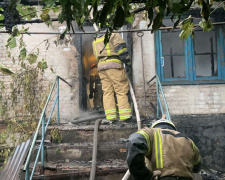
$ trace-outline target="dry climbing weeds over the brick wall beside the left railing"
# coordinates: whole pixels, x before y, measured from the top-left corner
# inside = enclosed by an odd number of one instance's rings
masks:
[[[47,97],[39,76],[39,69],[27,66],[12,76],[9,85],[0,81],[0,119],[7,125],[0,134],[0,147],[4,147],[0,156],[5,162],[10,149],[27,140],[37,127]]]

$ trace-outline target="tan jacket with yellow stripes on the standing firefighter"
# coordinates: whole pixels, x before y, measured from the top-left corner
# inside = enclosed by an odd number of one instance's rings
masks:
[[[98,71],[122,68],[122,62],[130,62],[126,43],[119,33],[112,33],[105,48],[104,39],[105,35],[102,35],[92,43],[94,55],[98,60]]]

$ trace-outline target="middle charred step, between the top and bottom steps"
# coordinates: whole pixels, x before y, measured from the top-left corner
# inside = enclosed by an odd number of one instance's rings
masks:
[[[70,162],[70,161],[91,161],[93,152],[92,143],[76,144],[51,144],[45,147],[46,161]],[[104,161],[106,159],[126,159],[125,142],[99,142],[97,150],[97,159]],[[37,149],[31,156],[31,162],[35,161]]]

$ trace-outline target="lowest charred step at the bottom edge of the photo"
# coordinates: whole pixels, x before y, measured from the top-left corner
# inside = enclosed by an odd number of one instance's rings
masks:
[[[40,174],[40,166],[36,167],[36,172],[33,179],[88,180],[91,172],[91,166],[91,161],[73,161],[61,163],[48,162],[45,164],[45,171],[42,175]],[[121,159],[108,159],[105,161],[97,162],[95,179],[122,179],[126,171],[126,161]],[[24,176],[25,172],[21,170],[21,179],[25,179]]]

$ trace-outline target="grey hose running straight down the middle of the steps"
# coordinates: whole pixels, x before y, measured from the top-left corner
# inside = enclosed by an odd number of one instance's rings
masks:
[[[96,159],[97,159],[97,145],[98,145],[98,128],[99,128],[99,124],[101,123],[101,121],[102,121],[101,119],[98,119],[95,122],[90,180],[94,180],[95,179]]]

